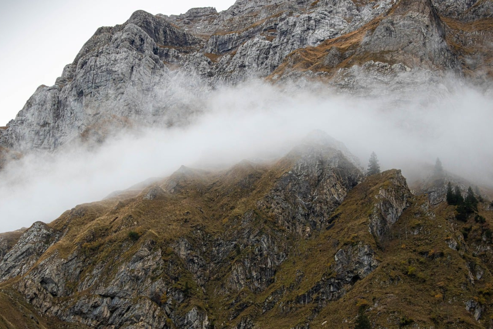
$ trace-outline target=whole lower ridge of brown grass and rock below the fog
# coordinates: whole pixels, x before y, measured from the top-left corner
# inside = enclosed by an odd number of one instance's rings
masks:
[[[273,163],[182,167],[0,235],[0,304],[17,305],[0,323],[493,325],[493,213],[460,222],[400,171],[365,178],[334,146],[317,133]]]

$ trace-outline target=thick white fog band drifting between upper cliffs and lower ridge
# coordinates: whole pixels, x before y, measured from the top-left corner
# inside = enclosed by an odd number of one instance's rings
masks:
[[[445,170],[493,185],[491,97],[457,81],[422,87],[385,97],[340,95],[315,83],[218,88],[186,127],[123,132],[96,149],[10,163],[0,172],[0,232],[51,222],[75,205],[181,165],[224,167],[281,156],[316,129],[342,141],[365,168],[374,151],[382,170],[402,169],[409,178],[440,157]]]

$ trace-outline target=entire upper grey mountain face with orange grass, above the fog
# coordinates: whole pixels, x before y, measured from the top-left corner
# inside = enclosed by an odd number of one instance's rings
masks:
[[[0,147],[54,150],[112,130],[186,124],[218,83],[315,79],[353,93],[491,75],[489,0],[238,0],[177,16],[136,11],[98,29],[51,87],[0,130]],[[437,80],[438,79],[438,80]]]

